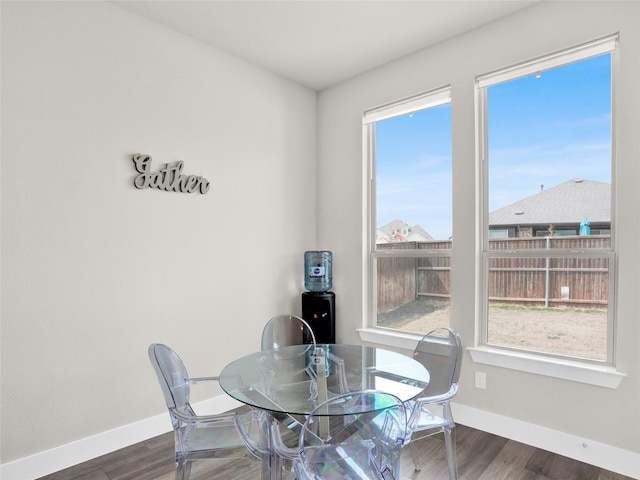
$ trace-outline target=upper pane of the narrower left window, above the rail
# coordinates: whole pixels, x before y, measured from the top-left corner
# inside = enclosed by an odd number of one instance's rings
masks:
[[[376,243],[451,238],[451,105],[375,126]]]

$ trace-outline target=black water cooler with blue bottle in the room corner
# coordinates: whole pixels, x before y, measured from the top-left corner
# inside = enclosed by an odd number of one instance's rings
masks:
[[[332,253],[326,250],[304,252],[302,318],[311,326],[316,343],[336,343],[336,294],[333,286]]]

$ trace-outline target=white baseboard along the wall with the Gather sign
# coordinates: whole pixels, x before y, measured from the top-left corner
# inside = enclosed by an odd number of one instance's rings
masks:
[[[226,412],[239,404],[228,395],[194,404],[198,413]],[[35,480],[171,430],[169,414],[156,415],[107,432],[0,465],[2,480]]]

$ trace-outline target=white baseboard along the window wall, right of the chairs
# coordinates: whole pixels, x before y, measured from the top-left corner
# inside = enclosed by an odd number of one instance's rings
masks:
[[[452,404],[452,411],[461,425],[640,479],[640,453],[465,405]]]

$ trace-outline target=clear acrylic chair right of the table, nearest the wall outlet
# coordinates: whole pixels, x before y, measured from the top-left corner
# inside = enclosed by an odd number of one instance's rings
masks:
[[[462,366],[462,339],[451,328],[437,328],[422,337],[413,358],[427,368],[430,376],[429,385],[421,396],[406,403],[408,429],[411,432],[409,449],[413,464],[416,470],[422,468],[413,442],[442,432],[447,451],[449,478],[457,480],[456,424],[451,414],[450,402],[458,392]]]

